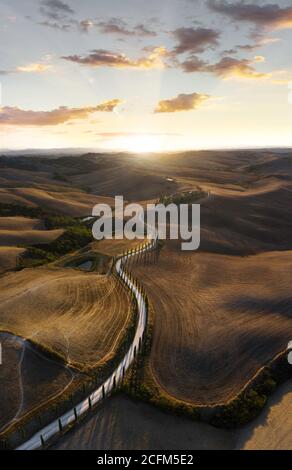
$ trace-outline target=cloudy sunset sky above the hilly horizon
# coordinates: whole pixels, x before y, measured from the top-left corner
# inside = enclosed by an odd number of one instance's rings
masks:
[[[0,0],[0,147],[292,147],[292,1]]]

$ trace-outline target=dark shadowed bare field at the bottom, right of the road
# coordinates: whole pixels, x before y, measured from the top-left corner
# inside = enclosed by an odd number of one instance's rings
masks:
[[[229,449],[230,431],[177,418],[125,396],[115,396],[58,440],[53,450]]]

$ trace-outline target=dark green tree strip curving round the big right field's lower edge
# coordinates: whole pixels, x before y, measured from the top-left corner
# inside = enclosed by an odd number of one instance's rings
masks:
[[[149,368],[152,334],[153,318],[150,318],[142,352],[127,374],[123,387],[125,392],[165,411],[205,421],[218,428],[235,429],[255,419],[277,387],[292,378],[291,365],[284,352],[266,365],[253,383],[225,405],[197,406],[183,402],[164,393],[153,380]]]

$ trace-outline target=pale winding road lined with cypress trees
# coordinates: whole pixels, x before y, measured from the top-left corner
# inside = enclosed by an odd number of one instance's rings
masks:
[[[78,416],[81,416],[82,414],[87,412],[91,406],[96,405],[98,402],[102,401],[103,398],[108,395],[112,391],[112,389],[116,385],[118,385],[118,383],[122,380],[125,372],[134,360],[136,351],[139,350],[139,346],[142,344],[143,333],[145,331],[147,323],[147,310],[145,299],[140,288],[133,283],[130,276],[128,276],[126,271],[123,269],[124,262],[127,261],[131,256],[136,256],[137,254],[141,254],[143,252],[147,252],[151,249],[154,249],[157,243],[158,237],[157,235],[155,235],[155,237],[150,240],[147,244],[142,245],[138,251],[130,251],[126,253],[124,256],[119,258],[115,264],[115,269],[118,276],[134,294],[138,305],[138,325],[135,337],[123,360],[113,371],[111,376],[97,390],[92,392],[87,398],[85,398],[82,402],[76,405],[73,409],[63,414],[55,421],[35,433],[28,441],[24,442],[19,447],[17,447],[16,450],[39,449],[45,444],[48,439],[58,435],[60,431],[68,424],[77,421]]]

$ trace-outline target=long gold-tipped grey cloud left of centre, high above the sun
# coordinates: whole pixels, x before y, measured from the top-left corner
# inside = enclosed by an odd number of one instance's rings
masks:
[[[62,59],[90,67],[151,69],[162,68],[164,66],[162,58],[167,55],[164,47],[155,47],[148,56],[139,59],[130,59],[125,54],[105,49],[94,49],[85,56],[71,55],[64,56]]]

